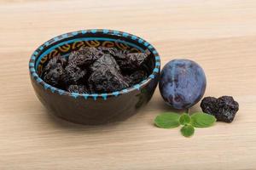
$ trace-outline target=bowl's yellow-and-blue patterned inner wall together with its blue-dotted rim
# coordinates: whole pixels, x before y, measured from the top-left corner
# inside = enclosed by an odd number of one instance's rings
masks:
[[[40,77],[44,66],[48,64],[49,59],[52,59],[58,55],[61,57],[68,57],[69,54],[75,50],[78,50],[82,46],[84,47],[107,47],[118,48],[121,50],[131,50],[131,52],[143,52],[148,54],[148,59],[143,63],[143,70],[148,72],[148,78],[139,82],[138,84],[125,88],[118,92],[109,94],[82,94],[85,99],[87,97],[96,98],[96,96],[102,96],[104,99],[106,96],[117,96],[119,94],[125,94],[130,91],[140,90],[143,85],[148,84],[150,80],[158,76],[160,71],[160,57],[154,47],[143,40],[140,37],[122,31],[111,30],[83,30],[73,31],[61,36],[54,37],[47,42],[44,42],[39,48],[37,48],[32,54],[30,59],[30,72],[33,79],[41,84],[45,89],[49,88],[53,93],[68,94],[74,96],[80,96],[78,93],[68,93],[59,88],[55,88],[44,82]]]

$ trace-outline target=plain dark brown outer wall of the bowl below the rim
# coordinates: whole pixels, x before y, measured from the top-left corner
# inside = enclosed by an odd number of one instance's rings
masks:
[[[118,96],[110,96],[106,100],[102,98],[96,100],[92,98],[84,99],[81,96],[74,99],[68,95],[51,93],[49,90],[42,88],[33,79],[32,75],[31,80],[38,99],[55,116],[79,124],[97,125],[124,121],[126,118],[136,114],[137,110],[151,99],[159,77],[160,73],[139,90],[131,91],[127,94],[119,94]]]

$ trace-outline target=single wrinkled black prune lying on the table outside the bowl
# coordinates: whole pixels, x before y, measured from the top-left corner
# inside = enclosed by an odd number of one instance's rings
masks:
[[[207,97],[202,99],[201,109],[203,112],[215,116],[218,121],[233,122],[239,105],[231,96],[223,96],[218,99]]]

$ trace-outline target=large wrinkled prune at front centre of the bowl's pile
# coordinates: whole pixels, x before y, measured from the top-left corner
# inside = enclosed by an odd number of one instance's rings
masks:
[[[106,63],[110,65],[106,65]],[[119,68],[113,57],[106,54],[92,65],[93,70],[88,82],[98,93],[119,91],[128,88],[125,78],[120,74]]]

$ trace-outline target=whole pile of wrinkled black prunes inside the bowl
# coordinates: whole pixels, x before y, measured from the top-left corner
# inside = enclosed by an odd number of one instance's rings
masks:
[[[148,77],[144,53],[117,48],[82,47],[66,59],[50,59],[41,77],[50,85],[71,93],[110,93],[129,88]]]

